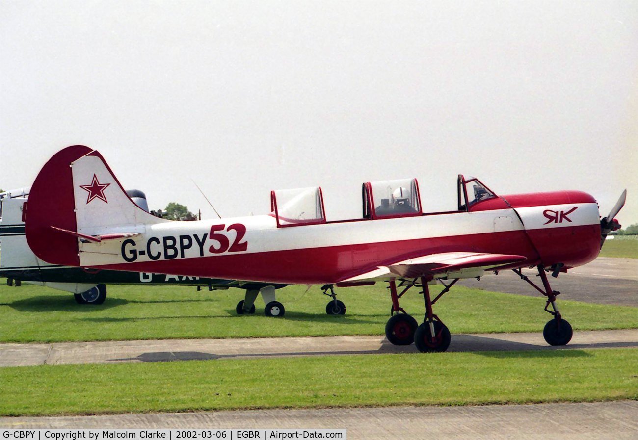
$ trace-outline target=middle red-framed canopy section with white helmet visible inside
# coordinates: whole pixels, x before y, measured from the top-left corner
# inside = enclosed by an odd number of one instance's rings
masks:
[[[363,216],[367,219],[420,216],[417,179],[382,180],[363,184]]]

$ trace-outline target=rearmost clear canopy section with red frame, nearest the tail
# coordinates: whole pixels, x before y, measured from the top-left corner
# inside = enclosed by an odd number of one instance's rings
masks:
[[[272,215],[277,226],[325,223],[321,187],[271,191]]]

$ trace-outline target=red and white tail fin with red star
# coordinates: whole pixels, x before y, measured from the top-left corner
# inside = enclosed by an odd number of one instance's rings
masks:
[[[57,152],[36,177],[25,231],[42,260],[79,266],[78,237],[140,233],[145,224],[163,221],[126,195],[98,151],[73,145]]]

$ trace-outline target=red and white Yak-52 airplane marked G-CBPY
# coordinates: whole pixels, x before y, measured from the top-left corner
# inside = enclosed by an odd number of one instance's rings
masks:
[[[448,348],[450,332],[433,304],[458,279],[512,269],[547,297],[553,318],[545,341],[564,345],[572,327],[546,272],[558,276],[596,258],[607,233],[619,227],[614,216],[625,195],[600,219],[587,193],[498,196],[459,175],[452,212],[424,213],[417,180],[405,179],[364,184],[359,219],[326,221],[321,188],[314,187],[272,191],[269,215],[174,222],[137,207],[101,154],[75,145],[57,152],[31,187],[26,237],[39,258],[56,265],[323,284],[330,291],[387,281],[386,335],[393,344],[415,342],[420,351]],[[537,268],[542,287],[523,275],[528,267]],[[431,298],[428,284],[436,279],[450,282]],[[399,305],[413,286],[424,295],[420,325]],[[266,308],[283,312],[276,301]]]

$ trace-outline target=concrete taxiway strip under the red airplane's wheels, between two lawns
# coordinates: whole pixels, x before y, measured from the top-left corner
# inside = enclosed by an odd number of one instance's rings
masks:
[[[448,351],[510,351],[638,347],[638,329],[575,332],[567,346],[548,346],[542,334],[454,335]],[[416,353],[382,336],[0,344],[0,367],[80,363],[167,362],[281,356]]]

